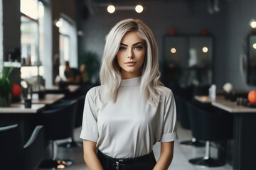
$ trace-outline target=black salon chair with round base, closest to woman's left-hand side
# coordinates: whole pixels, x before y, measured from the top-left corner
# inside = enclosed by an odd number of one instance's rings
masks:
[[[66,166],[71,166],[73,161],[65,159],[57,159],[57,146],[55,140],[63,140],[73,135],[75,125],[75,113],[77,110],[78,101],[70,100],[59,103],[52,108],[48,108],[41,113],[41,123],[45,127],[45,140],[51,145],[51,159],[44,160],[40,165],[42,168],[50,169],[64,169]]]

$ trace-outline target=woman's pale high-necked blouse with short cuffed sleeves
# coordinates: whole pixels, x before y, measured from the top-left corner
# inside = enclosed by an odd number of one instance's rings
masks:
[[[172,91],[161,88],[158,106],[144,102],[141,77],[123,79],[117,101],[102,102],[100,87],[87,92],[80,138],[97,142],[97,148],[113,158],[149,154],[156,142],[178,139],[176,106]]]

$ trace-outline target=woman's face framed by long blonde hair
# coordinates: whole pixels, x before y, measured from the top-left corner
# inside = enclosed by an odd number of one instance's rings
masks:
[[[117,52],[117,62],[121,67],[122,79],[139,77],[146,55],[146,44],[135,31],[127,32],[122,38]]]

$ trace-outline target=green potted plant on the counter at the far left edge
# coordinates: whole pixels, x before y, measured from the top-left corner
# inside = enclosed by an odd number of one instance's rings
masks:
[[[11,83],[9,75],[13,67],[4,67],[0,72],[0,107],[9,107],[11,105]]]

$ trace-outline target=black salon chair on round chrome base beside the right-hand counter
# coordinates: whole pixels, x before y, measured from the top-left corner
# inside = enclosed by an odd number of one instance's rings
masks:
[[[189,162],[201,166],[223,166],[225,157],[220,155],[225,153],[220,149],[225,148],[229,139],[233,137],[233,115],[218,110],[217,108],[198,108],[192,103],[188,103],[188,112],[191,118],[191,130],[193,137],[206,141],[206,154],[204,157],[190,159]],[[218,158],[210,157],[210,142],[224,143],[224,147],[218,148]]]

